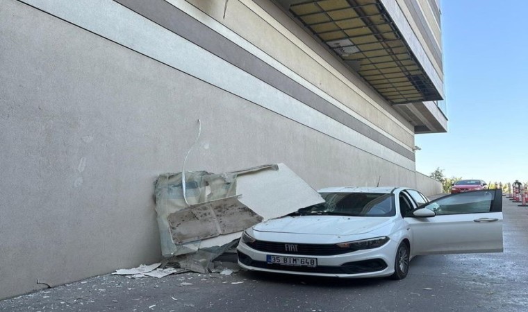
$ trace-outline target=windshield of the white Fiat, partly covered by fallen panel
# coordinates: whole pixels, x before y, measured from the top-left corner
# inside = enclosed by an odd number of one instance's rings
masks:
[[[393,194],[321,193],[325,202],[299,209],[300,215],[395,216]]]

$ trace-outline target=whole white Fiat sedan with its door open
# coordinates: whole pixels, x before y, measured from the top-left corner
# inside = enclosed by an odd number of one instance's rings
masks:
[[[502,191],[429,201],[404,187],[333,187],[325,202],[258,223],[242,234],[247,270],[403,279],[422,254],[502,252]]]

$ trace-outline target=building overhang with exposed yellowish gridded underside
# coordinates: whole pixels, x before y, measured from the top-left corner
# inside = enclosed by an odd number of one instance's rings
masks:
[[[418,132],[447,130],[438,106],[424,104],[443,100],[443,80],[396,1],[275,1],[388,103],[404,105],[397,107],[399,112],[405,107],[420,112],[404,115]],[[431,127],[438,116],[436,127]]]

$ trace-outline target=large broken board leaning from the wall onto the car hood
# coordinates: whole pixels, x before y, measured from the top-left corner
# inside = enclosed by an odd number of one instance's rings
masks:
[[[240,239],[242,230],[263,218],[279,218],[324,202],[285,164],[221,174],[186,172],[190,205],[183,198],[181,177],[181,173],[166,173],[155,183],[163,257],[222,246]],[[228,204],[231,208],[222,211]]]

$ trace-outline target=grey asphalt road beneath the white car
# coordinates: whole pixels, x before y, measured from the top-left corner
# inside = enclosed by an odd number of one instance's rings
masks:
[[[416,257],[402,281],[104,275],[3,300],[0,311],[528,311],[528,207],[504,199],[503,211],[503,253]]]

